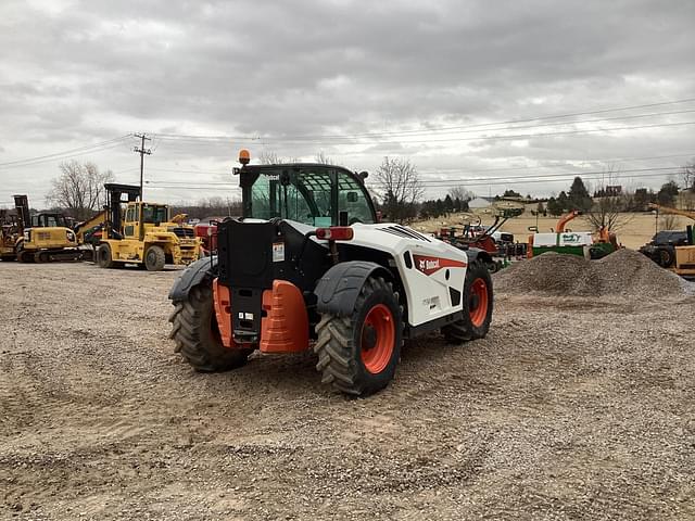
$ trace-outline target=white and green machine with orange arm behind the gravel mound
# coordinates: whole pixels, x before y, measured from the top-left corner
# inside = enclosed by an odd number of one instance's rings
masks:
[[[591,231],[572,231],[567,224],[582,215],[579,209],[563,215],[555,225],[552,233],[539,233],[536,227],[530,227],[533,231],[529,236],[527,257],[532,258],[546,252],[566,253],[579,255],[589,259],[605,257],[620,247],[618,239],[612,231],[605,226],[598,230],[598,239],[594,239]]]

